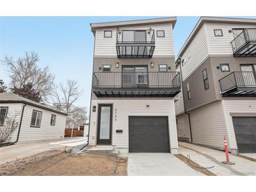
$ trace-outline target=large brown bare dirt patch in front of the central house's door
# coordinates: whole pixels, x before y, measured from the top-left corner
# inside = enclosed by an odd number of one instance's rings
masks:
[[[32,163],[22,170],[13,172],[12,175],[127,175],[127,162],[116,163],[113,160],[115,159],[88,153],[69,155],[62,152],[57,156]]]

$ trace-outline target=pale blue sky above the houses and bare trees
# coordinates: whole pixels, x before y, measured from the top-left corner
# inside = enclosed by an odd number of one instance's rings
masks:
[[[0,58],[19,57],[25,51],[39,54],[39,67],[48,66],[56,82],[76,79],[83,95],[76,103],[90,106],[93,67],[93,33],[90,22],[109,22],[156,17],[0,17]],[[256,18],[256,17],[246,17]],[[199,17],[177,17],[174,29],[175,55]],[[8,84],[8,71],[0,65],[0,79]]]

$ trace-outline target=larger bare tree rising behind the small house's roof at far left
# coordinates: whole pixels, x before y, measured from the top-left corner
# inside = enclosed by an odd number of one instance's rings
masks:
[[[39,68],[38,61],[39,56],[36,53],[26,52],[24,57],[18,57],[17,60],[6,56],[1,60],[1,64],[6,65],[11,73],[11,88],[21,89],[31,83],[35,92],[39,92],[42,100],[46,101],[53,86],[54,76],[50,74],[48,67]]]

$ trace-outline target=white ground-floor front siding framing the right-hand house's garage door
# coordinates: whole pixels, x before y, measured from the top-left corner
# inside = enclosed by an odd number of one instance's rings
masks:
[[[222,102],[230,148],[237,149],[232,116],[256,116],[256,100],[223,100]]]

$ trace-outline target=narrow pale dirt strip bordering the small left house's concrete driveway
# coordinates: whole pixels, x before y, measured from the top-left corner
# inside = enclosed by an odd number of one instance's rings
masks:
[[[26,158],[20,158],[0,165],[0,175],[11,175],[18,170],[25,169],[27,166],[33,163],[39,162],[45,158],[57,156],[62,153],[59,150],[50,150],[37,153]]]

